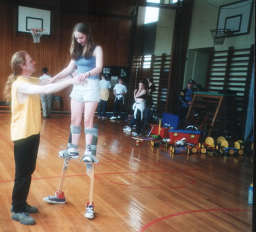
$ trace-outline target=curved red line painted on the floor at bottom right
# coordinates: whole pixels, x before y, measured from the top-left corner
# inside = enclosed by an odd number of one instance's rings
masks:
[[[170,217],[175,217],[175,216],[180,216],[180,215],[185,215],[185,214],[194,214],[194,213],[199,213],[199,212],[209,212],[209,211],[252,211],[251,209],[198,209],[198,210],[191,210],[191,211],[184,211],[176,214],[170,214],[164,217],[160,217],[159,219],[153,220],[146,224],[145,226],[141,227],[138,232],[143,232],[146,229],[148,229],[150,226],[153,224],[156,224],[157,222],[160,222],[165,219],[169,219]]]

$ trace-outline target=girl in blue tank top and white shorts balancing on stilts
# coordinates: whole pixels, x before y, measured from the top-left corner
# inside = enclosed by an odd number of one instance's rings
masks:
[[[81,121],[84,112],[84,133],[86,137],[86,151],[83,161],[98,162],[96,159],[97,127],[94,127],[94,114],[100,102],[100,85],[98,74],[102,72],[103,51],[101,46],[95,45],[90,28],[87,24],[77,23],[74,27],[70,47],[71,60],[65,69],[53,77],[50,82],[61,79],[77,69],[78,77],[87,79],[87,85],[74,85],[71,97],[71,145],[67,151],[59,152],[59,156],[65,158],[68,153],[71,159],[77,159],[78,141],[81,135]],[[45,201],[54,203],[54,197],[44,197]],[[58,203],[58,202],[56,202]],[[93,205],[87,205],[86,217],[94,218]]]

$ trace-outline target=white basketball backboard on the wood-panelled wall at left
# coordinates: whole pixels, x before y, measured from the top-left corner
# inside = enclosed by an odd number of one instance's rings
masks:
[[[30,33],[30,28],[44,29],[50,35],[51,11],[18,6],[18,32]]]

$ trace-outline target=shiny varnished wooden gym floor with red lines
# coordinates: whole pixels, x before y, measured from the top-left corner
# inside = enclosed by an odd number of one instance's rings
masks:
[[[49,204],[43,197],[58,188],[63,159],[57,153],[67,145],[70,115],[42,119],[37,166],[28,203],[39,213],[36,224],[11,220],[14,155],[10,140],[10,113],[0,113],[0,231],[251,231],[252,206],[247,203],[252,163],[244,155],[238,163],[201,154],[174,154],[150,141],[136,144],[123,133],[125,121],[97,119],[99,137],[95,166],[95,219],[84,217],[90,179],[86,165],[71,160],[64,182],[67,203]],[[82,126],[83,129],[83,126]],[[84,152],[84,135],[80,139]]]

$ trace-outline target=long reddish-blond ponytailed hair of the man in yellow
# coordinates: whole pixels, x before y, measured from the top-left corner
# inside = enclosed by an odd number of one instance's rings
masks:
[[[11,69],[14,73],[10,74],[5,83],[4,99],[6,100],[6,103],[11,101],[11,85],[17,79],[18,75],[21,75],[22,73],[21,65],[26,63],[26,54],[28,53],[25,51],[19,51],[11,58]]]

